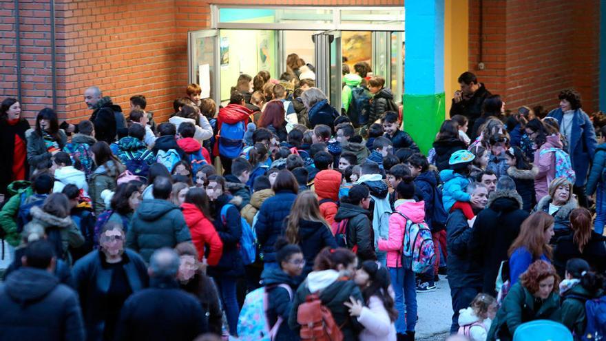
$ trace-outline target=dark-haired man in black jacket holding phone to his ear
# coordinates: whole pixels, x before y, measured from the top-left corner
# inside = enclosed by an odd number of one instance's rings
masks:
[[[452,98],[452,106],[450,107],[450,117],[454,115],[463,115],[469,121],[469,127],[474,127],[475,121],[482,114],[482,105],[484,100],[491,95],[490,91],[486,90],[483,83],[479,83],[475,74],[471,72],[463,72],[457,79],[461,90],[454,92]],[[476,136],[472,130],[469,134],[470,138]]]

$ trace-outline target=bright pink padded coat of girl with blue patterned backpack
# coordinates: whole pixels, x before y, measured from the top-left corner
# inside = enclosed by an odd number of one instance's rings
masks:
[[[425,203],[423,201],[396,201],[396,211],[400,212],[412,223],[423,223],[425,219]],[[379,239],[379,250],[387,251],[387,267],[402,267],[402,247],[406,234],[406,218],[394,213],[389,217],[389,238]]]

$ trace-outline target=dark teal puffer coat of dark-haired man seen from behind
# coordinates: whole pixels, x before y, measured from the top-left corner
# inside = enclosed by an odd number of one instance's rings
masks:
[[[149,262],[151,254],[163,247],[174,248],[189,242],[191,234],[178,206],[168,200],[143,200],[135,211],[126,234],[126,247]]]

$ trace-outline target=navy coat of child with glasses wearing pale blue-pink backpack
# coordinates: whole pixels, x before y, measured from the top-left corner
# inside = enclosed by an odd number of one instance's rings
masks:
[[[280,324],[278,333],[275,334],[273,340],[299,340],[299,334],[289,328],[289,317],[293,309],[293,299],[299,285],[296,278],[289,276],[280,268],[275,268],[262,273],[261,283],[265,287],[265,290],[268,291],[267,320],[269,325],[273,326],[278,321],[278,317],[282,318],[282,324]],[[293,298],[289,296],[289,292],[285,288],[279,287],[279,285],[288,285],[291,287]]]

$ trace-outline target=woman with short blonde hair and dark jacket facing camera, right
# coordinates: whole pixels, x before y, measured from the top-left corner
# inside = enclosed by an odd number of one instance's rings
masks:
[[[543,211],[555,219],[554,237],[550,244],[555,245],[558,238],[570,234],[570,213],[578,204],[572,194],[572,183],[566,178],[556,178],[550,183],[549,195],[536,204],[532,213]]]

